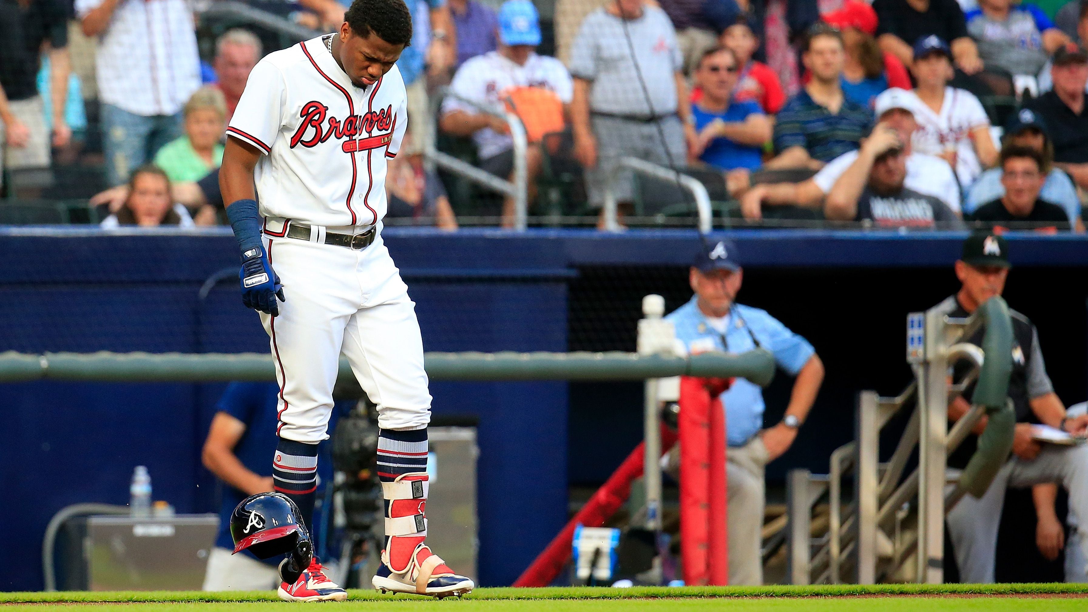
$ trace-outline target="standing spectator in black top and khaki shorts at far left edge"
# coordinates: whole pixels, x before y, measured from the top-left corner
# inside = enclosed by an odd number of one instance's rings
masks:
[[[44,50],[49,55],[51,139],[37,86]],[[0,88],[8,101],[7,110],[0,109],[0,180],[4,170],[26,170],[42,171],[26,177],[28,187],[52,182],[50,143],[63,147],[72,136],[64,118],[70,72],[64,4],[60,0],[0,2]]]

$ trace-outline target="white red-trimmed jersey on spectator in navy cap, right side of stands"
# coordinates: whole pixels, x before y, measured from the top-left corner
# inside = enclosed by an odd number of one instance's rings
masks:
[[[922,100],[917,101],[914,120],[918,129],[911,139],[914,150],[919,153],[936,155],[949,149],[955,150],[955,173],[960,184],[970,185],[982,173],[982,165],[975,153],[975,142],[970,139],[972,130],[980,126],[989,126],[990,117],[986,115],[981,102],[970,91],[944,88],[944,101],[939,113],[934,112]]]

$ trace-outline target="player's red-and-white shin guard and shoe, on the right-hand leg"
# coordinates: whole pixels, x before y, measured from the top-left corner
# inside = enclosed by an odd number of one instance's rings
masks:
[[[401,474],[392,483],[382,483],[386,540],[374,588],[445,597],[463,595],[475,586],[471,579],[455,574],[423,544],[428,488],[425,472]]]

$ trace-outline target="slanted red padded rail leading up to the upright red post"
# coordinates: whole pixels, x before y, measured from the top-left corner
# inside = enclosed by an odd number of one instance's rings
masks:
[[[662,425],[662,453],[666,453],[677,442],[677,435],[668,427]],[[574,527],[579,524],[586,527],[599,527],[605,524],[627,498],[631,495],[631,483],[642,476],[645,452],[643,444],[640,442],[631,454],[623,460],[623,463],[608,477],[608,480],[590,501],[571,519],[559,532],[547,548],[532,562],[524,572],[518,576],[514,586],[516,587],[546,587],[559,575],[570,559],[571,539],[574,536]]]

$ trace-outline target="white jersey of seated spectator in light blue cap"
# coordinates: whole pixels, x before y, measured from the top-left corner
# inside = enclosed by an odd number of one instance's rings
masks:
[[[564,104],[569,104],[574,96],[574,84],[562,62],[547,55],[532,53],[526,65],[518,65],[498,51],[477,55],[457,68],[449,90],[462,98],[503,109],[506,90],[514,87],[541,87],[548,89]],[[467,113],[479,111],[456,98],[447,97],[442,103],[442,112],[460,110]],[[498,134],[490,127],[472,135],[480,159],[487,159],[514,147],[508,135]]]

